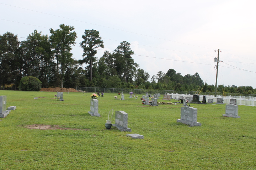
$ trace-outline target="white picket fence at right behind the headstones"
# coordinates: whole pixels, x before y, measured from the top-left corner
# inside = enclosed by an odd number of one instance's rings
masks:
[[[171,94],[172,98],[180,98],[180,96],[185,97],[193,97],[193,95],[188,95],[188,94]],[[199,95],[200,97],[200,101],[203,100],[203,96],[204,95]],[[235,98],[236,99],[236,104],[237,105],[244,105],[244,106],[256,106],[256,97],[245,97],[245,96],[212,96],[212,95],[205,95],[206,96],[206,102],[208,101],[208,98],[213,99],[213,102],[216,103],[217,102],[217,98],[222,98],[224,101],[223,103],[225,104],[229,104],[229,100],[231,98]]]

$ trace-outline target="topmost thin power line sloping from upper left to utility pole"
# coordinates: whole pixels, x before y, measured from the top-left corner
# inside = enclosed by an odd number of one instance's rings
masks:
[[[0,4],[8,5],[8,4],[4,4],[4,3],[0,3]],[[70,19],[70,20],[74,20],[74,21],[78,21],[78,22],[87,23],[87,24],[93,24],[93,23],[89,23],[89,22],[80,21],[80,20],[77,20],[77,19],[66,18],[66,17],[57,16],[57,15],[53,15],[53,14],[49,14],[49,13],[45,13],[45,12],[39,12],[39,11],[35,11],[35,10],[30,10],[30,9],[27,9],[27,8],[17,7],[17,6],[13,6],[13,5],[8,5],[8,6],[12,6],[12,7],[16,7],[16,8],[21,8],[21,9],[29,10],[29,11],[33,11],[33,12],[43,13],[43,14],[47,14],[47,15],[51,15],[51,16],[55,16],[55,17]],[[130,31],[126,31],[126,30],[122,30],[122,29],[117,29],[117,28],[112,28],[112,27],[107,27],[107,26],[102,26],[102,25],[98,25],[98,24],[93,24],[93,25],[101,26],[101,27],[105,27],[105,28],[111,28],[111,29],[115,29],[115,30],[120,30],[120,31],[123,31],[123,32],[128,32],[128,33],[133,33],[133,34],[138,34],[138,35],[143,35],[143,36],[148,36],[148,37],[151,37],[151,38],[156,38],[156,39],[161,39],[161,40],[166,40],[166,41],[171,41],[171,42],[177,42],[177,43],[180,43],[180,44],[186,44],[186,43],[183,43],[183,42],[167,40],[167,39],[158,38],[158,37],[155,37],[155,36],[150,36],[150,35],[145,35],[145,34],[134,33],[134,32],[130,32]],[[191,46],[201,47],[201,48],[205,48],[205,49],[210,49],[210,48],[207,48],[207,47],[202,47],[202,46],[197,46],[197,45],[192,45],[192,44],[186,44],[186,45],[191,45]],[[211,49],[211,50],[214,50],[214,49]]]

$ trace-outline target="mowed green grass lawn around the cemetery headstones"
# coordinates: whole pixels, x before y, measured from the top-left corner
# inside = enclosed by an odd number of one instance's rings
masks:
[[[225,104],[189,103],[202,123],[190,127],[176,122],[181,104],[146,106],[128,94],[124,101],[104,94],[98,99],[101,117],[91,117],[91,93],[64,92],[64,101],[56,101],[55,94],[0,91],[7,107],[17,107],[0,118],[0,170],[256,169],[256,107],[239,106],[239,119],[222,116]],[[110,109],[128,113],[132,132],[106,130]],[[26,128],[32,124],[84,130]]]

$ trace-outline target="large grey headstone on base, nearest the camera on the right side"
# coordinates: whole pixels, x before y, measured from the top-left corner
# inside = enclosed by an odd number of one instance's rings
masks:
[[[181,107],[181,119],[177,119],[177,122],[190,126],[201,126],[201,123],[197,122],[197,109],[193,107]]]

